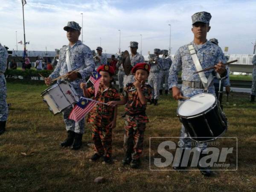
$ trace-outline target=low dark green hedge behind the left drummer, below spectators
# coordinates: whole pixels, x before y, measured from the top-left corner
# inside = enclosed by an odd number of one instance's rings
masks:
[[[48,77],[51,73],[52,70],[6,70],[4,73],[7,79],[16,79],[18,76],[22,76],[23,79],[31,79],[31,77],[40,77],[38,74],[40,73],[44,77]]]

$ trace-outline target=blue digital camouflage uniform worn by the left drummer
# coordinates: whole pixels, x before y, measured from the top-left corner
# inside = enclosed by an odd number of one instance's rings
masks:
[[[81,79],[76,79],[72,81],[74,89],[79,96],[83,95],[82,89],[80,88],[80,83],[85,81],[85,78],[89,77],[95,68],[93,61],[93,54],[89,47],[82,44],[81,41],[77,41],[73,47],[63,46],[59,53],[58,64],[55,67],[55,70],[49,76],[52,79],[62,76],[68,72],[67,63],[66,63],[66,49],[70,49],[70,63],[72,70],[80,69],[78,73],[81,74]],[[84,133],[84,119],[76,123],[75,121],[68,119],[72,107],[66,109],[63,112],[64,122],[66,124],[67,131],[74,131],[75,133],[82,134]]]

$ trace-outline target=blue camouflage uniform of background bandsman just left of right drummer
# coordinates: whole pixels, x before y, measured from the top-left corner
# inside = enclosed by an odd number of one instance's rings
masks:
[[[160,90],[165,89],[168,90],[168,77],[169,77],[169,69],[172,65],[172,59],[171,58],[163,58],[163,68],[160,70],[160,78],[161,78],[161,84],[160,84]],[[164,84],[164,87],[163,87]]]

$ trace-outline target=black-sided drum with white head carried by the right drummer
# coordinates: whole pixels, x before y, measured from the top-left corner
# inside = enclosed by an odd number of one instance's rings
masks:
[[[189,137],[199,143],[215,140],[227,130],[225,114],[209,93],[192,96],[178,107],[177,114]]]

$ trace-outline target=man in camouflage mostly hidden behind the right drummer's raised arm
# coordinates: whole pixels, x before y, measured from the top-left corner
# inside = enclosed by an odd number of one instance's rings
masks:
[[[212,42],[213,44],[215,45],[218,45],[218,39],[215,39],[215,38],[212,38],[212,39],[209,39],[210,42]],[[228,56],[225,56],[225,63],[228,61]],[[221,80],[221,93],[219,94],[219,85],[220,85],[220,80]],[[227,77],[222,79],[220,78],[220,76],[218,76],[218,73],[216,74],[216,77],[213,79],[213,84],[214,84],[214,87],[215,87],[215,95],[216,97],[218,98],[219,102],[220,102],[220,105],[222,103],[222,95],[223,95],[223,87],[226,88],[226,92],[227,93],[230,93],[230,79],[229,79],[229,71],[227,71]],[[221,105],[221,109],[223,109],[223,105]]]

